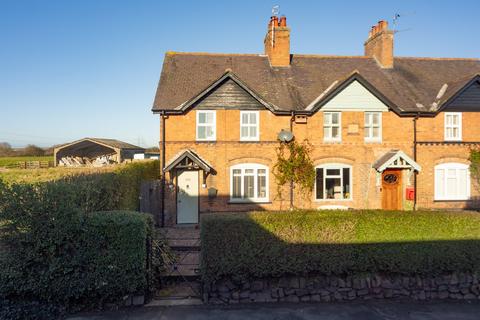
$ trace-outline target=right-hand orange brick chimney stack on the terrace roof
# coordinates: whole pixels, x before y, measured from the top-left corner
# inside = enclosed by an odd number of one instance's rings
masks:
[[[382,68],[393,68],[393,31],[385,20],[378,22],[368,33],[365,55],[374,57]]]

